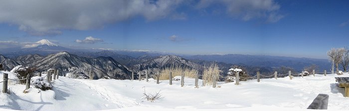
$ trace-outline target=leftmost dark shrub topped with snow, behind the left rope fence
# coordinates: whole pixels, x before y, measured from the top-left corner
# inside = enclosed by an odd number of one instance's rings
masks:
[[[26,76],[29,74],[29,77],[33,77],[32,73],[35,71],[35,68],[23,67],[22,65],[14,67],[10,72],[14,74],[17,79],[19,79],[20,84],[25,84]],[[23,79],[23,80],[21,80]]]

